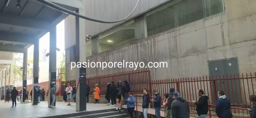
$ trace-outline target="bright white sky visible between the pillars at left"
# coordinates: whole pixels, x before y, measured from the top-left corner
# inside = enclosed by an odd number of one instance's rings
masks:
[[[65,33],[64,33],[64,23],[65,21],[62,20],[57,25],[57,48],[61,49],[61,51],[65,50]],[[39,51],[41,52],[42,49],[47,49],[49,51],[49,41],[50,41],[50,33],[46,33],[40,40],[39,40]],[[33,51],[34,45],[28,48],[28,51]]]

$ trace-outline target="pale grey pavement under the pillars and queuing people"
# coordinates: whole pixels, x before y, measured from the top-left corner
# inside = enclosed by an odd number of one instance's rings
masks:
[[[48,101],[41,101],[38,105],[32,105],[32,103],[18,103],[17,107],[10,108],[12,106],[12,102],[0,101],[0,117],[1,118],[39,118],[39,117],[47,117],[47,116],[56,116],[63,114],[71,114],[78,113],[76,111],[76,103],[71,102],[70,106],[67,106],[67,103],[64,102],[56,102],[55,108],[48,107]],[[88,103],[86,111],[93,110],[104,110],[104,109],[113,109],[115,107],[110,107],[106,104],[94,104]],[[142,112],[142,107],[138,106],[138,111]],[[136,110],[136,108],[135,108]],[[82,111],[82,112],[86,112]],[[135,112],[136,113],[136,112]],[[154,109],[148,109],[149,114],[155,114]],[[161,116],[164,117],[164,111],[161,111]],[[194,118],[194,117],[190,117]]]

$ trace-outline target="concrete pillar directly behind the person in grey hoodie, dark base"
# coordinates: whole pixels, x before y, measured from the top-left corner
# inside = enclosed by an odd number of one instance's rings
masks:
[[[49,52],[49,95],[48,95],[48,107],[51,106],[52,102],[54,102],[54,106],[56,104],[55,101],[52,101],[52,94],[50,92],[53,85],[56,85],[56,26],[52,28],[50,31],[50,52]]]

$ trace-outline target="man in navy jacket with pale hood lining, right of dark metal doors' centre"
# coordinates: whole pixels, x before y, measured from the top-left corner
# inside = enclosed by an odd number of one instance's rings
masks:
[[[223,91],[218,91],[218,97],[215,113],[219,118],[232,118],[229,99],[226,98]]]

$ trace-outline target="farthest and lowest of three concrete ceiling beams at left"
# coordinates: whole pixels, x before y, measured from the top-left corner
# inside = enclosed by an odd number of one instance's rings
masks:
[[[0,46],[0,51],[24,53],[25,49],[22,45],[13,46],[13,45],[5,44]]]

